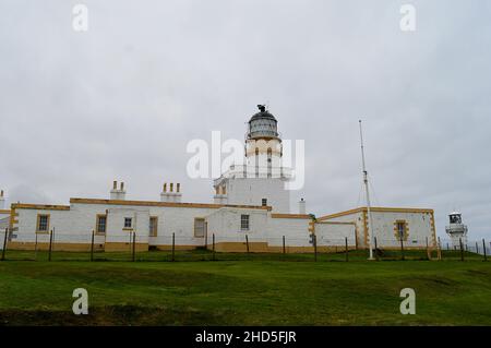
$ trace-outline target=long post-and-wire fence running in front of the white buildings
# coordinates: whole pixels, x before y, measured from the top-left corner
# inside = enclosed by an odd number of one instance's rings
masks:
[[[482,240],[265,237],[237,233],[179,233],[142,236],[128,233],[58,233],[53,230],[33,236],[0,232],[1,261],[487,261],[491,242]]]

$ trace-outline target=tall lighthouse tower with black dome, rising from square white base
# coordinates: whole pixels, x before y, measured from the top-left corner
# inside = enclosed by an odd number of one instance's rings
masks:
[[[290,193],[285,182],[291,169],[282,165],[283,146],[276,118],[258,105],[248,122],[246,158],[214,180],[215,203],[268,205],[273,212],[289,213]]]

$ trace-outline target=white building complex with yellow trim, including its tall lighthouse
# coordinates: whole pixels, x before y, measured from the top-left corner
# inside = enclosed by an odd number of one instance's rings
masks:
[[[70,199],[70,205],[15,203],[8,215],[9,249],[46,249],[50,231],[56,250],[105,251],[211,248],[216,251],[311,252],[313,236],[320,251],[345,245],[367,248],[367,209],[320,218],[289,212],[285,183],[290,169],[282,165],[277,120],[263,106],[249,121],[244,165],[235,165],[214,180],[214,203],[182,202],[179,183],[164,183],[159,201],[130,201],[123,183],[115,181],[109,200]],[[1,196],[3,199],[3,195]],[[1,204],[0,200],[0,204]],[[0,206],[1,208],[1,206]],[[433,211],[372,208],[379,247],[436,245]],[[1,215],[0,215],[1,219]],[[248,243],[246,243],[248,241]]]

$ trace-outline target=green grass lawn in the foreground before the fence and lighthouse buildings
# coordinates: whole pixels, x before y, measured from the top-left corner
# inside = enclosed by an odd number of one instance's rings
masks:
[[[36,262],[8,256],[0,262],[0,325],[491,325],[491,262],[479,256],[367,262],[354,252],[348,263],[343,254],[319,262],[309,254],[199,261],[209,260],[206,251],[176,254],[189,262],[157,262],[168,260],[160,252],[136,255],[147,262],[123,261],[129,254],[92,263],[69,261],[73,253],[55,253],[52,262],[44,253]],[[88,291],[88,315],[72,313],[75,288]],[[416,290],[416,315],[399,313],[403,288]]]

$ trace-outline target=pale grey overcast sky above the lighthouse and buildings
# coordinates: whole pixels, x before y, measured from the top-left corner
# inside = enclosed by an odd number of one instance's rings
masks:
[[[417,10],[402,32],[403,3]],[[324,215],[363,204],[358,119],[373,205],[463,213],[491,238],[491,2],[0,0],[0,188],[10,202],[211,202],[185,146],[243,140],[267,103],[306,141],[306,185]],[[296,209],[296,206],[292,205]]]

